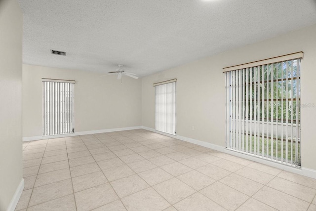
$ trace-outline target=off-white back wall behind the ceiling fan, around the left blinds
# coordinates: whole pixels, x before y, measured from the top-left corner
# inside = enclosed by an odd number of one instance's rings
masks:
[[[42,135],[41,78],[76,81],[75,132],[141,126],[141,79],[101,75],[23,64],[23,137]]]

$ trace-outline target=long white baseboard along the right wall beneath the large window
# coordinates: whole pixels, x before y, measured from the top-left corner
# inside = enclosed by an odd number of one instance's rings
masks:
[[[312,178],[316,179],[316,170],[314,170],[314,169],[308,169],[308,168],[304,168],[304,167],[302,167],[301,169],[298,169],[298,168],[295,168],[295,167],[286,166],[284,164],[272,162],[272,161],[265,160],[265,159],[262,159],[262,158],[257,158],[257,157],[250,156],[250,155],[247,155],[247,154],[234,152],[232,150],[225,149],[225,147],[223,147],[223,146],[219,146],[219,145],[216,145],[216,144],[208,143],[208,142],[205,142],[205,141],[200,141],[200,140],[196,140],[196,139],[193,139],[193,138],[188,138],[188,137],[184,137],[184,136],[180,136],[180,135],[171,135],[171,134],[168,134],[168,133],[157,131],[157,130],[155,130],[153,128],[150,128],[150,127],[144,127],[143,126],[142,128],[146,129],[146,130],[149,130],[149,131],[153,131],[153,132],[162,134],[162,135],[173,137],[173,138],[176,138],[176,139],[179,139],[179,140],[183,140],[183,141],[187,141],[187,142],[190,142],[190,143],[193,143],[193,144],[197,144],[199,146],[207,147],[207,148],[214,149],[214,150],[217,150],[217,151],[220,151],[220,152],[224,152],[224,153],[227,153],[227,154],[230,154],[230,155],[234,155],[236,157],[244,158],[244,159],[251,160],[251,161],[254,161],[254,162],[257,162],[257,163],[265,164],[267,166],[271,166],[271,167],[275,167],[275,168],[278,168],[278,169],[287,170],[287,171],[290,171],[292,173],[297,173],[297,174],[301,174],[301,175],[312,177]]]

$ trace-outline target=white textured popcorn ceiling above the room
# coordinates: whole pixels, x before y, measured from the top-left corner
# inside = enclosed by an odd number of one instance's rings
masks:
[[[23,63],[140,77],[316,23],[315,0],[18,1]]]

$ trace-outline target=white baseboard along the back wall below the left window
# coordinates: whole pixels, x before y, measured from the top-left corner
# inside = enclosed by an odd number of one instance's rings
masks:
[[[122,130],[132,130],[132,129],[141,129],[141,126],[136,127],[120,127],[120,128],[112,128],[112,129],[99,129],[99,130],[89,130],[89,131],[80,131],[80,132],[74,132],[69,134],[61,134],[61,135],[39,135],[39,136],[30,136],[30,137],[23,137],[22,141],[36,141],[36,140],[42,140],[42,139],[51,139],[51,138],[64,138],[64,137],[70,137],[70,136],[77,136],[77,135],[89,135],[89,134],[95,134],[95,133],[103,133],[103,132],[116,132],[116,131],[122,131]]]

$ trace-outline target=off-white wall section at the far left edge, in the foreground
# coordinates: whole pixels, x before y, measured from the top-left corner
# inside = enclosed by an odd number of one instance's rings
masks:
[[[21,181],[22,12],[16,0],[1,0],[0,211],[7,210],[11,205],[10,202],[14,198]]]

